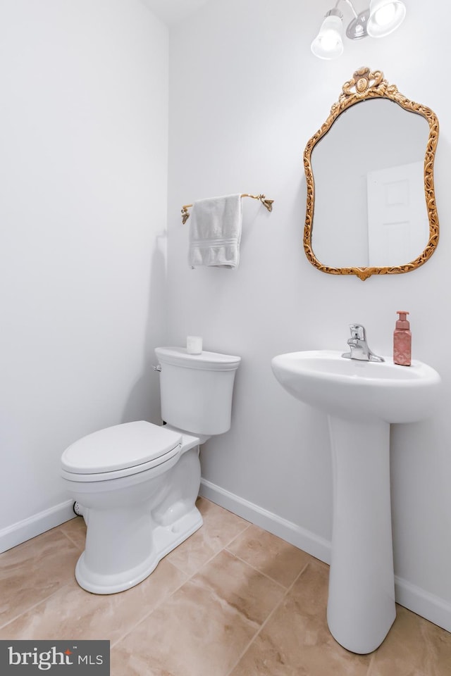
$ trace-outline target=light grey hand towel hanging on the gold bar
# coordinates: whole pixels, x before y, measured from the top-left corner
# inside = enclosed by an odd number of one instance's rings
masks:
[[[240,262],[241,196],[210,197],[194,202],[190,216],[192,268],[237,268]]]

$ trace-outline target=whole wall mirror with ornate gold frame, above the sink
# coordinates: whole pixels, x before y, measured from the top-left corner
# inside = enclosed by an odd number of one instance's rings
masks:
[[[304,251],[324,273],[407,273],[438,244],[438,119],[361,68],[304,151]]]

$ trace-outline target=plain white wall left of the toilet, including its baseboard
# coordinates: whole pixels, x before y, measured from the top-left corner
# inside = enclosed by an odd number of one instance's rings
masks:
[[[140,0],[0,0],[0,544],[70,518],[63,449],[159,420],[168,30]]]

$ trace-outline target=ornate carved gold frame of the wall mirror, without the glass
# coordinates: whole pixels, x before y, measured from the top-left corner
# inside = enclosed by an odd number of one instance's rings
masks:
[[[394,267],[368,267],[368,268],[332,268],[328,265],[323,265],[317,260],[311,248],[311,235],[313,229],[314,218],[314,202],[315,202],[315,188],[314,175],[311,168],[311,151],[314,146],[324,137],[330,130],[334,121],[341,115],[343,111],[354,104],[359,104],[364,99],[390,99],[396,104],[404,108],[406,111],[422,115],[429,125],[429,136],[426,144],[426,154],[424,157],[424,193],[426,198],[426,209],[429,219],[429,240],[418,258],[415,258],[407,265],[397,265]],[[398,275],[400,273],[409,273],[416,270],[420,265],[426,263],[428,258],[431,258],[435,248],[438,244],[438,215],[435,207],[435,190],[433,177],[433,164],[435,157],[435,149],[438,142],[438,119],[430,108],[416,104],[409,101],[405,96],[398,92],[395,84],[388,84],[384,80],[381,70],[370,71],[369,68],[360,68],[354,73],[354,77],[349,82],[345,82],[342,87],[342,93],[338,102],[333,104],[330,115],[326,122],[322,125],[316,134],[309,140],[304,150],[304,170],[307,180],[307,211],[305,216],[304,226],[304,251],[310,263],[318,268],[323,273],[330,275],[357,275],[361,280],[366,280],[371,275]]]

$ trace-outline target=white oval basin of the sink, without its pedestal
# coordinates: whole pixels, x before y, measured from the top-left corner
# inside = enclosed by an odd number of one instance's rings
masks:
[[[280,354],[273,373],[292,396],[347,420],[413,423],[435,406],[440,376],[421,361],[357,361],[333,350]]]

